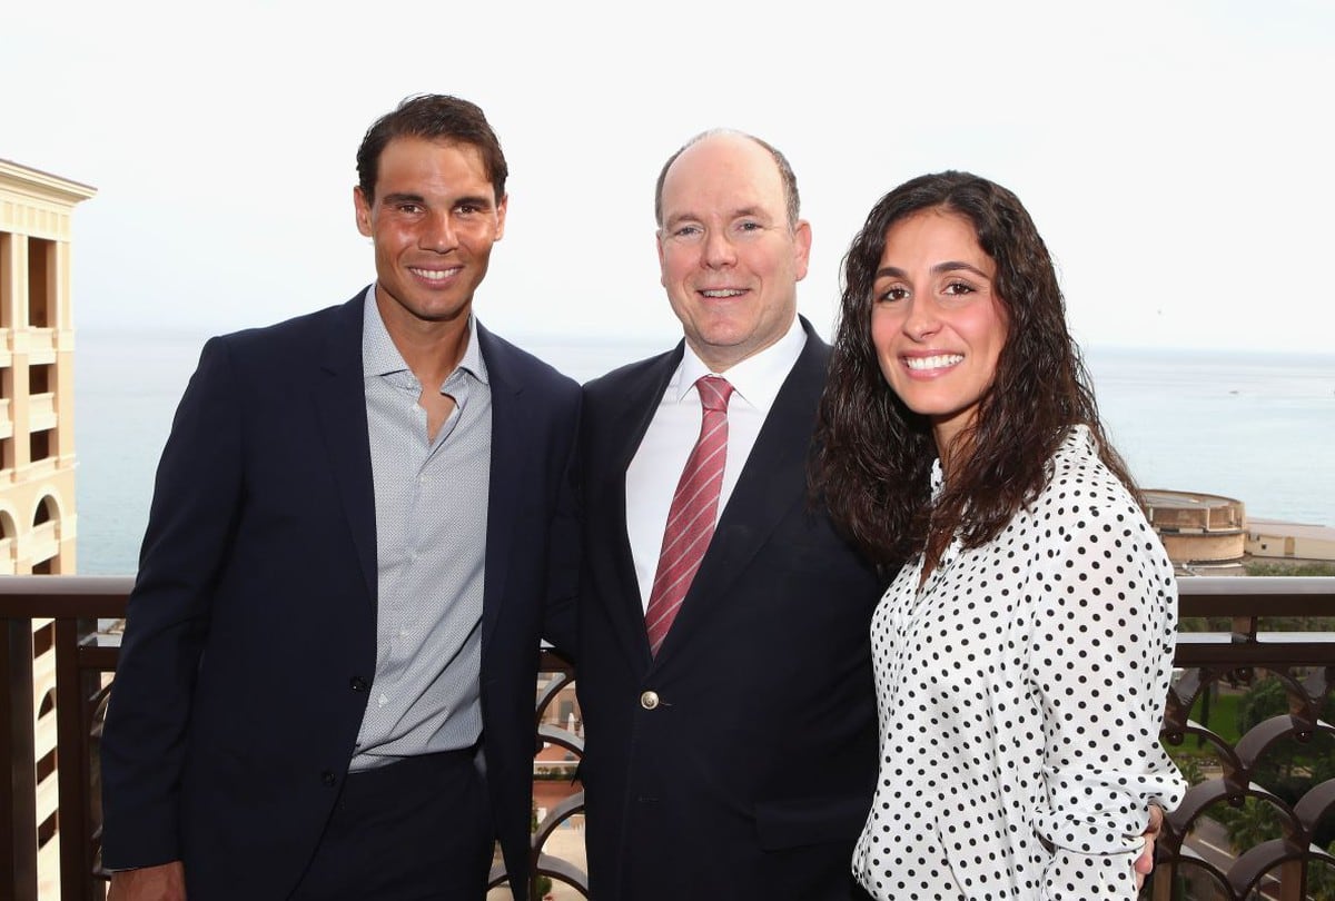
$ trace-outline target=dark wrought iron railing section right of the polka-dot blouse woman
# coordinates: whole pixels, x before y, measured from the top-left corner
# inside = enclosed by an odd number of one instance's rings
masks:
[[[1144,897],[1335,898],[1335,579],[1179,586],[1183,626],[1204,630],[1179,631],[1163,738],[1193,785]]]

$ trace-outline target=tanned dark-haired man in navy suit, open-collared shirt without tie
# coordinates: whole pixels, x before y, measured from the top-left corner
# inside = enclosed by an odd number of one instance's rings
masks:
[[[481,898],[497,837],[526,894],[579,392],[473,318],[507,203],[481,109],[403,101],[358,174],[375,284],[208,342],[172,424],[103,738],[113,898]]]

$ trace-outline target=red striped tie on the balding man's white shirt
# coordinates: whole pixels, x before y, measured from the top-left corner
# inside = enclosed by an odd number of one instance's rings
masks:
[[[724,463],[728,461],[728,398],[733,386],[717,375],[705,375],[696,382],[696,391],[704,407],[700,438],[672,495],[663,547],[658,553],[658,570],[649,591],[649,609],[645,610],[649,653],[654,655],[672,629],[672,621],[714,534],[718,490],[724,485]]]

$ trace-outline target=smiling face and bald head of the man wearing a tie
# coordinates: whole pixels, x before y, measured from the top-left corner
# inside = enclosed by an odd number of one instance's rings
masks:
[[[778,167],[741,135],[677,158],[662,188],[658,263],[686,342],[714,371],[765,350],[797,315],[812,231],[789,226]]]

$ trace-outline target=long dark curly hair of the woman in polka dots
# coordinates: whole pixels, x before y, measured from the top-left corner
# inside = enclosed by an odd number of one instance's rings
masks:
[[[890,226],[925,210],[973,224],[996,264],[1007,339],[992,386],[961,435],[967,453],[932,501],[932,424],[886,384],[872,343],[872,287]],[[1089,376],[1067,330],[1048,248],[1011,191],[968,172],[922,175],[872,208],[844,258],[844,292],[812,458],[813,497],[881,565],[925,551],[934,566],[953,535],[967,547],[996,538],[1049,478],[1047,463],[1071,426],[1089,428],[1104,465],[1135,495],[1099,423]],[[960,457],[956,466],[955,457]]]

